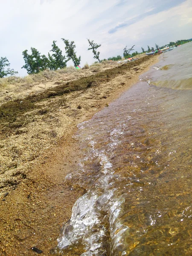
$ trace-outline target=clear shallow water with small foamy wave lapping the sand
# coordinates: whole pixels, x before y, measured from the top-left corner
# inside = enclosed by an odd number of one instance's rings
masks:
[[[164,53],[79,125],[81,160],[66,181],[87,193],[58,238],[63,255],[192,255],[191,52],[188,43]]]

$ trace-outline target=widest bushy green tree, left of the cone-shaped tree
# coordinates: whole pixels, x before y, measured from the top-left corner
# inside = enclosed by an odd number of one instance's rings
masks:
[[[49,60],[45,55],[41,55],[37,49],[31,47],[32,54],[28,54],[28,50],[23,51],[23,59],[25,65],[21,68],[25,68],[28,74],[36,74],[49,67]]]

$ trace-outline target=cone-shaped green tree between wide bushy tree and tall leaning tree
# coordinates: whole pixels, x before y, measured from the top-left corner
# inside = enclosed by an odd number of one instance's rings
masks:
[[[52,55],[48,53],[49,57],[49,68],[50,70],[58,70],[67,66],[67,61],[65,55],[62,54],[61,49],[55,44],[56,41],[52,42],[52,49],[50,52],[53,52]]]

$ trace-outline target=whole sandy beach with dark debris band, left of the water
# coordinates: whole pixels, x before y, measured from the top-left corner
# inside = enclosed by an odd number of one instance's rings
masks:
[[[128,64],[108,62],[1,88],[2,109],[14,101],[31,105],[14,119],[2,115],[0,124],[0,255],[35,255],[32,247],[51,254],[73,204],[86,192],[65,182],[76,166],[77,125],[107,108],[157,61],[157,55],[142,55]]]

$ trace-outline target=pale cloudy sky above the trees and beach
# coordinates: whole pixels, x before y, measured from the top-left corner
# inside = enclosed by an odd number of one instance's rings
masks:
[[[25,49],[47,55],[55,40],[65,53],[61,38],[75,41],[81,66],[95,61],[87,38],[102,44],[101,59],[122,55],[126,45],[141,52],[189,39],[192,0],[0,0],[0,57],[20,76]]]

